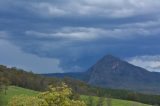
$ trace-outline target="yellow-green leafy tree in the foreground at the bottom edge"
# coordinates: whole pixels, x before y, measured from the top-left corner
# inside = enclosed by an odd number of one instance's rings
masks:
[[[62,84],[58,87],[49,87],[49,90],[40,93],[38,96],[17,96],[14,97],[9,106],[86,106],[84,102],[73,100],[71,89]]]

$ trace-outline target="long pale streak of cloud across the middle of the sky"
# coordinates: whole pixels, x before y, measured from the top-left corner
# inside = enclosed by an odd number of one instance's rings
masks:
[[[130,39],[143,36],[153,36],[160,33],[158,28],[145,28],[145,27],[118,27],[118,28],[94,28],[94,27],[64,27],[49,32],[26,31],[25,34],[36,38],[48,39],[61,39],[72,41],[90,41],[98,39]]]

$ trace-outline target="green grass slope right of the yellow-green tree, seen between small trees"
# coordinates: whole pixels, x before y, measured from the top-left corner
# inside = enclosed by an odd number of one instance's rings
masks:
[[[88,96],[81,96],[81,100],[85,101],[87,103]],[[93,103],[96,106],[98,102],[98,97],[93,97]],[[104,106],[107,106],[107,100],[105,98],[104,100]],[[133,102],[133,101],[127,101],[127,100],[120,100],[120,99],[111,99],[111,106],[151,106],[151,105],[146,105],[138,102]]]

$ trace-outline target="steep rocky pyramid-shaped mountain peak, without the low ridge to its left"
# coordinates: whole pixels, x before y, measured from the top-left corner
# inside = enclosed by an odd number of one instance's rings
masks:
[[[88,83],[102,87],[131,89],[134,84],[143,84],[145,80],[154,82],[150,72],[129,64],[112,55],[106,55],[89,68]],[[159,80],[159,79],[158,79]]]

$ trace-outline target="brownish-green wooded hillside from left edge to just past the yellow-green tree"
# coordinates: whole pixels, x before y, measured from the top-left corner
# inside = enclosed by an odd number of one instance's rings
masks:
[[[79,93],[88,92],[87,86],[82,81],[70,79],[70,78],[49,78],[41,75],[34,74],[32,72],[26,72],[17,68],[7,68],[6,66],[0,65],[0,79],[4,80],[5,84],[32,89],[36,91],[45,91],[49,85],[58,86],[62,82],[65,82],[69,87],[73,89],[73,95],[71,98],[78,99]],[[4,85],[4,84],[3,84]],[[5,87],[7,89],[7,86]]]

